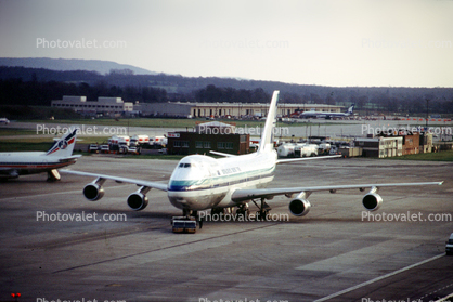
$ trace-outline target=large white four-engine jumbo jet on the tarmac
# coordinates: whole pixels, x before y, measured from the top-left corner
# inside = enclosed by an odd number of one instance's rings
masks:
[[[289,212],[296,216],[306,215],[311,207],[308,197],[312,192],[359,188],[370,192],[363,197],[363,206],[366,210],[374,211],[379,208],[383,198],[377,194],[378,188],[389,186],[414,185],[440,185],[442,182],[424,183],[387,183],[387,184],[353,184],[353,185],[325,185],[325,186],[298,186],[266,188],[274,178],[277,163],[295,160],[312,160],[333,158],[337,156],[324,156],[314,158],[277,159],[273,146],[272,131],[275,126],[279,91],[272,95],[269,114],[261,134],[258,150],[253,154],[234,156],[224,155],[224,158],[215,159],[204,155],[190,155],[182,158],[174,168],[168,183],[148,182],[145,180],[127,179],[115,175],[88,173],[81,171],[66,171],[72,174],[93,176],[95,180],[83,188],[83,195],[88,200],[95,201],[103,197],[102,185],[106,180],[132,183],[140,188],[130,194],[127,203],[132,210],[143,210],[148,199],[146,193],[152,188],[167,192],[171,205],[182,210],[183,216],[197,216],[198,211],[211,210],[213,213],[222,213],[226,209],[236,208],[236,214],[247,215],[250,201],[258,206],[257,218],[266,218],[270,207],[266,200],[274,196],[285,195],[290,198]],[[258,202],[257,202],[258,201]],[[174,225],[173,225],[174,231]]]

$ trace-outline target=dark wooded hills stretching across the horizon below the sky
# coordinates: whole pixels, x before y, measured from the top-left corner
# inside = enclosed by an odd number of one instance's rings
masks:
[[[272,91],[281,102],[357,105],[365,114],[453,114],[452,88],[336,88],[231,78],[133,75],[130,70],[55,71],[42,68],[0,67],[0,105],[50,106],[63,95],[122,97],[127,102],[268,103]]]

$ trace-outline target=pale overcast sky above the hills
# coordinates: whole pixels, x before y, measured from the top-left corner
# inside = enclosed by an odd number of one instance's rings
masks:
[[[453,87],[453,0],[0,0],[0,56],[300,84]]]

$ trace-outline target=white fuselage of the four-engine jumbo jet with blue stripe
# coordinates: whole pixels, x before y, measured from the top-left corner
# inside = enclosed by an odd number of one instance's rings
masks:
[[[274,178],[275,162],[274,150],[220,159],[187,156],[171,174],[168,198],[174,207],[194,211],[237,206],[233,192],[264,187]]]

